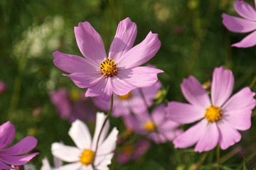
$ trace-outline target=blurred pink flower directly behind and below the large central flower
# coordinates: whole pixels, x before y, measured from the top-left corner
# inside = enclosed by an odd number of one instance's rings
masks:
[[[160,88],[161,83],[159,81],[157,81],[153,86],[142,88],[146,104],[144,102],[144,98],[139,92],[139,89],[134,89],[124,96],[114,94],[111,115],[119,117],[130,115],[131,112],[135,114],[144,113],[147,107],[153,104],[153,100],[156,98],[156,94],[159,92]],[[103,111],[108,111],[110,108],[110,101],[102,101],[99,98],[94,98],[93,101],[95,102],[95,105]]]

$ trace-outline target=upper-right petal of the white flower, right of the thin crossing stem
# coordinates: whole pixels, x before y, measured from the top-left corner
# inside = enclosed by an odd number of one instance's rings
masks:
[[[118,130],[117,128],[113,128],[113,130],[110,132],[110,135],[102,142],[101,145],[99,145],[96,153],[96,157],[104,154],[110,154],[114,152],[114,149],[117,145],[117,135]]]

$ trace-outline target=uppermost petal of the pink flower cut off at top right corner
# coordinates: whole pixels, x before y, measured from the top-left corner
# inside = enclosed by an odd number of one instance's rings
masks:
[[[238,12],[240,16],[243,18],[247,18],[249,20],[256,20],[256,11],[255,8],[252,8],[249,4],[244,1],[235,1],[235,11]]]

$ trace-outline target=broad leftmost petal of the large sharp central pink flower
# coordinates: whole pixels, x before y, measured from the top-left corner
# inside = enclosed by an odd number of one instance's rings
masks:
[[[86,60],[83,57],[77,55],[68,55],[59,51],[53,52],[54,60],[53,63],[56,67],[68,73],[75,72],[96,72],[100,63],[95,65],[94,63]],[[92,65],[93,64],[93,65]]]

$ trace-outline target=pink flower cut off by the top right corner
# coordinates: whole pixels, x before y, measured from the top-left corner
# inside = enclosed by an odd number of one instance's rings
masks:
[[[256,4],[256,0],[255,0]],[[250,33],[240,42],[233,44],[233,47],[252,47],[256,45],[256,10],[244,1],[236,1],[235,11],[238,12],[242,18],[229,16],[223,13],[223,24],[228,30],[235,33]]]

